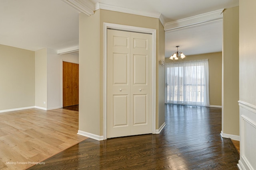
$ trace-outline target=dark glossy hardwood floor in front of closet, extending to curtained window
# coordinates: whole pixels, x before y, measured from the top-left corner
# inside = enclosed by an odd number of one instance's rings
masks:
[[[238,170],[238,152],[220,136],[220,108],[165,107],[166,127],[159,135],[86,139],[30,170]]]

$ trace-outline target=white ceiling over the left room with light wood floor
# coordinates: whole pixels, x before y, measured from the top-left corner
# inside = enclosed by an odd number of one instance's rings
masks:
[[[78,14],[62,0],[0,0],[0,44],[32,51],[77,46]]]

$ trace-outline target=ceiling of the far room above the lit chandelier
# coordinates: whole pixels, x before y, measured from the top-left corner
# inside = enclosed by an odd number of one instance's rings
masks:
[[[165,57],[177,51],[184,55],[222,51],[222,20],[165,32]]]

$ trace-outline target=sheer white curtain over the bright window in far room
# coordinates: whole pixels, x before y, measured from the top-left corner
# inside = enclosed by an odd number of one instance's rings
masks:
[[[165,102],[210,106],[208,59],[166,63]]]

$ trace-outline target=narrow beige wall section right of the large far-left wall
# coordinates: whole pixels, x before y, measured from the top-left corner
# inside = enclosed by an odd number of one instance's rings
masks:
[[[35,51],[35,106],[47,108],[47,49]],[[45,104],[44,104],[45,102]]]

